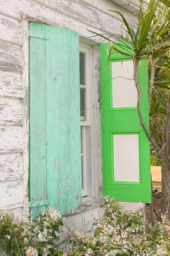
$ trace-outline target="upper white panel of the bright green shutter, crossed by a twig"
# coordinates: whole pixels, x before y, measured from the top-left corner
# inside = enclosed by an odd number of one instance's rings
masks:
[[[113,107],[136,107],[137,90],[133,80],[133,60],[112,62],[111,65],[112,78],[115,78],[112,80]],[[116,78],[117,76],[121,77]]]

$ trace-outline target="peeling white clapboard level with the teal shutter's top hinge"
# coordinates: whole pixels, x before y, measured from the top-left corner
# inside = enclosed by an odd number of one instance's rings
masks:
[[[8,41],[21,46],[23,44],[21,21],[0,15],[0,41]]]

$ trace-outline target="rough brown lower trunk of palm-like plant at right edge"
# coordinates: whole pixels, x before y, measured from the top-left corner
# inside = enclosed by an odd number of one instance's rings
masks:
[[[161,152],[162,196],[161,213],[170,220],[170,163],[166,158],[165,149]]]

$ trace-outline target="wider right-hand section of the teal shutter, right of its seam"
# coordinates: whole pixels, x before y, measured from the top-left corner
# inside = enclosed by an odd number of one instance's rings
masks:
[[[49,206],[62,214],[81,203],[79,37],[46,26],[47,187]]]

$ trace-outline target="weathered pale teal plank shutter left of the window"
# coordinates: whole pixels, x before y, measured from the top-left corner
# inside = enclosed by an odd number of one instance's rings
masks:
[[[62,215],[81,205],[79,36],[49,25],[30,30],[30,203]]]

